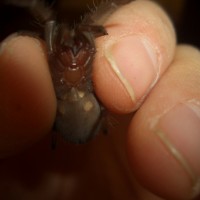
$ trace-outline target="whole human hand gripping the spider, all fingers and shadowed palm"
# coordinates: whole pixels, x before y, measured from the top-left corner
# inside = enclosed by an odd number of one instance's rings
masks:
[[[80,146],[58,139],[55,151],[43,42],[12,35],[1,44],[0,199],[198,199],[199,51],[177,45],[166,13],[149,1],[122,6],[103,24],[109,35],[96,40],[93,80],[115,113],[109,134]]]

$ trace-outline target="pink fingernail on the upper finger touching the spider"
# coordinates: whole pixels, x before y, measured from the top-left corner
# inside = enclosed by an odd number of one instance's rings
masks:
[[[105,57],[133,102],[143,98],[158,79],[155,49],[140,36],[126,36],[106,44]]]

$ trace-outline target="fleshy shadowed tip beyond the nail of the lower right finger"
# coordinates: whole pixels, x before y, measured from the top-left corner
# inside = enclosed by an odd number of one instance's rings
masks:
[[[156,133],[141,126],[138,121],[133,122],[127,138],[128,157],[136,179],[164,199],[186,200],[194,197],[193,180],[183,166]]]

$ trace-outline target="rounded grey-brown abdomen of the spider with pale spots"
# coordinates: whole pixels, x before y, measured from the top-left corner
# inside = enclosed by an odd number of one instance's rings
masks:
[[[85,143],[100,127],[101,107],[92,93],[72,88],[65,100],[58,100],[55,128],[72,143]]]

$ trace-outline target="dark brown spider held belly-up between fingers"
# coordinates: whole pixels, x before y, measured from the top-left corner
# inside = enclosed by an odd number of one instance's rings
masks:
[[[101,129],[105,110],[94,94],[91,81],[96,52],[94,39],[106,35],[105,28],[82,23],[69,29],[39,0],[7,0],[6,3],[26,7],[44,22],[44,39],[57,98],[55,131],[72,143],[89,141]]]

